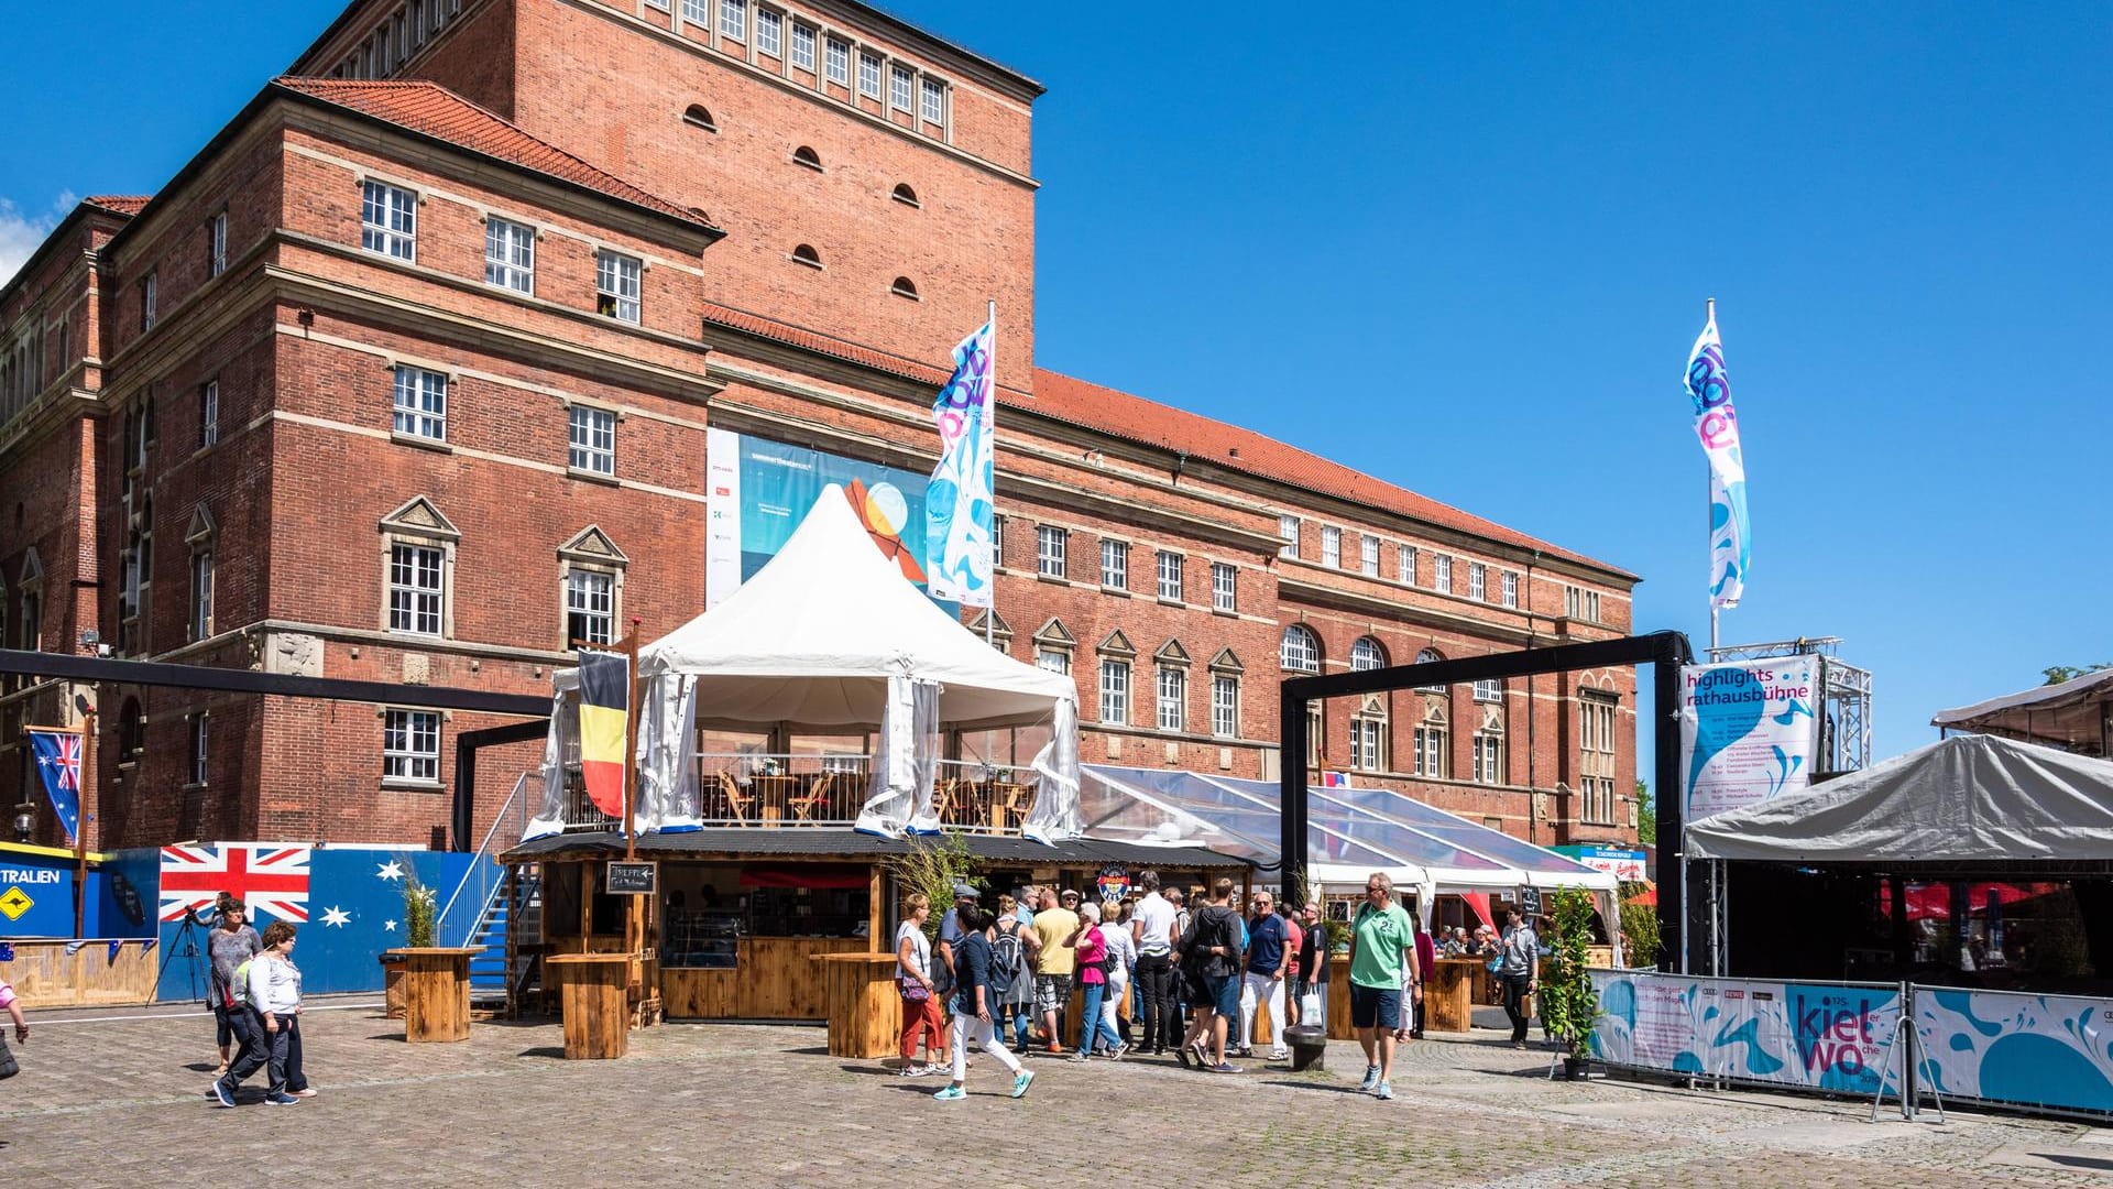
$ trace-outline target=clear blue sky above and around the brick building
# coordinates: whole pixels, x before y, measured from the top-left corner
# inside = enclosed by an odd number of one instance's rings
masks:
[[[1680,372],[1716,296],[1754,510],[1726,641],[1845,637],[1881,755],[2113,660],[2113,11],[894,8],[1050,89],[1044,366],[1614,561],[1640,630],[1701,645]],[[336,11],[13,13],[0,214],[156,188]]]

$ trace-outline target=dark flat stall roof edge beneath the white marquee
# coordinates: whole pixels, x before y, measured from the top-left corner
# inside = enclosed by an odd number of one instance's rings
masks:
[[[1168,870],[1240,870],[1247,859],[1219,855],[1202,846],[1137,846],[1101,838],[1076,838],[1054,846],[1031,838],[961,834],[974,859],[1029,867],[1103,865],[1168,867]],[[906,855],[909,840],[879,838],[856,829],[830,827],[712,827],[682,834],[640,834],[640,859],[885,859]],[[615,831],[549,834],[522,842],[499,857],[501,863],[543,863],[562,859],[623,857],[623,836]]]

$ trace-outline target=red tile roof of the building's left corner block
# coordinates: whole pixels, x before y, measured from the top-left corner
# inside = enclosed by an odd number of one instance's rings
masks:
[[[695,207],[682,207],[647,193],[615,173],[606,173],[571,152],[537,140],[469,99],[425,80],[357,80],[357,78],[294,78],[281,76],[273,87],[361,112],[448,144],[494,157],[522,169],[532,169],[575,186],[598,190],[613,199],[678,218],[706,231],[718,231]]]

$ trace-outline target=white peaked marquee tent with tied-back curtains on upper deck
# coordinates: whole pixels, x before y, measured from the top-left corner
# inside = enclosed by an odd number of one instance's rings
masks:
[[[879,726],[873,787],[858,827],[938,827],[932,787],[938,730],[1048,721],[1035,757],[1040,791],[1023,825],[1054,842],[1078,834],[1078,688],[993,650],[875,546],[843,489],[830,484],[792,537],[723,603],[638,654],[647,679],[638,732],[642,829],[697,821],[695,724],[784,721]],[[545,753],[545,808],[528,836],[560,829],[556,779],[564,692]]]

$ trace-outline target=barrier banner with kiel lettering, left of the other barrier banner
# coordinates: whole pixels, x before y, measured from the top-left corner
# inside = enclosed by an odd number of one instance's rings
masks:
[[[1900,992],[1593,971],[1597,1060],[1661,1073],[1737,1077],[1840,1094],[1876,1094],[1900,1028]]]

